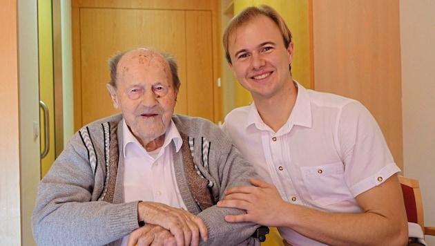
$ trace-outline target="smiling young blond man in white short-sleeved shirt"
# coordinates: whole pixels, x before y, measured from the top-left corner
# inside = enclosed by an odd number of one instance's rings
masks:
[[[224,129],[266,182],[226,190],[226,216],[278,227],[289,245],[405,245],[400,169],[378,124],[355,100],[291,77],[291,32],[276,10],[249,7],[224,32],[226,59],[253,104]]]

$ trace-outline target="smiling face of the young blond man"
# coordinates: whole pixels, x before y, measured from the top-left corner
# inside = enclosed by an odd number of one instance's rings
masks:
[[[292,84],[293,43],[284,46],[280,29],[269,17],[260,15],[235,30],[228,50],[229,66],[254,100],[272,97]]]

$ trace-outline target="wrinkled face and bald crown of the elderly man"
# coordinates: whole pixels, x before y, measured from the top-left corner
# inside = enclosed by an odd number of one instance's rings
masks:
[[[117,65],[117,88],[108,86],[115,108],[142,145],[164,135],[177,93],[168,61],[151,50],[132,50]]]

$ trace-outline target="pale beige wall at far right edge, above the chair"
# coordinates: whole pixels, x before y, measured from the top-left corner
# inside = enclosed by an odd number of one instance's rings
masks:
[[[420,181],[435,226],[435,1],[400,0],[404,174]],[[426,236],[435,245],[435,236]]]

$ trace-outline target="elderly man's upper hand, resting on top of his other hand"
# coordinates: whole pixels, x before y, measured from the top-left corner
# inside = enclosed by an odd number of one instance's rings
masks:
[[[160,225],[175,237],[177,246],[199,245],[200,236],[206,241],[209,231],[198,216],[184,209],[177,209],[158,202],[139,202],[137,205],[139,221]]]

